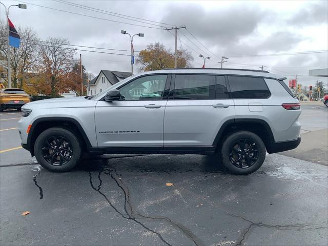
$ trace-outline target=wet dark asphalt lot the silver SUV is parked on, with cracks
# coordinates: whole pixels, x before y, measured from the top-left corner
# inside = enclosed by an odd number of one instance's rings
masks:
[[[328,108],[302,110],[302,136],[316,134],[304,148],[315,148]],[[328,244],[317,160],[271,154],[237,176],[208,156],[105,155],[50,173],[19,148],[19,117],[0,113],[0,245]]]

